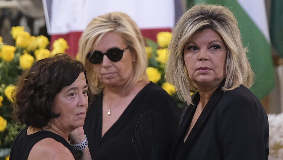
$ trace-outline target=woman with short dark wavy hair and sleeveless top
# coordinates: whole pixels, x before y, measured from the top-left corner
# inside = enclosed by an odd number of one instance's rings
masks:
[[[15,138],[10,159],[74,159],[73,149],[85,148],[87,137],[70,145],[68,135],[84,125],[89,96],[80,61],[58,54],[34,63],[13,93],[13,117],[27,127]]]

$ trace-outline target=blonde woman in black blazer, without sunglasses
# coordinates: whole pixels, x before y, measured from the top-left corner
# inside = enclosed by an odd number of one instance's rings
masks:
[[[268,159],[268,119],[248,89],[254,74],[233,13],[192,7],[173,29],[168,51],[165,78],[186,101],[171,158]]]

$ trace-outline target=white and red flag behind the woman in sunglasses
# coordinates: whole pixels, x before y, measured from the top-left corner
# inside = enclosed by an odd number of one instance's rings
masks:
[[[70,46],[68,54],[74,56],[82,31],[94,17],[112,11],[125,12],[137,23],[143,36],[156,41],[158,32],[172,31],[175,16],[181,14],[178,1],[43,0],[43,5],[51,44],[55,39],[64,38]]]

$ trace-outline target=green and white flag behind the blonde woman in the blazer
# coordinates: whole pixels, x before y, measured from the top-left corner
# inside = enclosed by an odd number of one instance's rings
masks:
[[[234,13],[242,43],[248,47],[247,57],[255,73],[255,83],[250,90],[261,100],[275,85],[265,1],[187,0],[188,7],[197,3],[223,5]]]

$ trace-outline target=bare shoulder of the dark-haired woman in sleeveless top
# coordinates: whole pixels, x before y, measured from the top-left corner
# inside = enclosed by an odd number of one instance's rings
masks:
[[[56,146],[56,147],[54,147]],[[53,138],[38,141],[28,155],[28,159],[74,159],[71,151]]]

